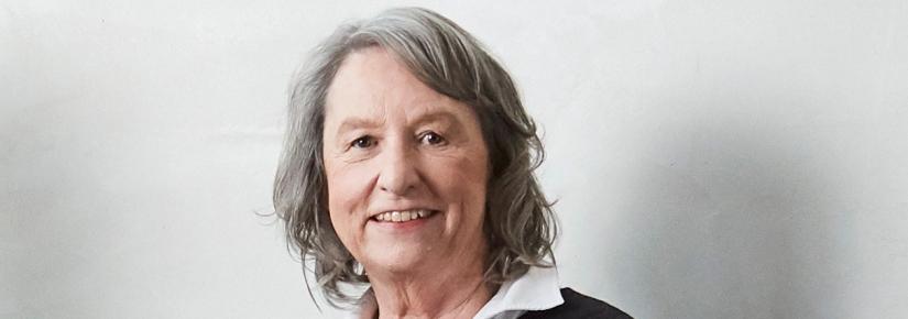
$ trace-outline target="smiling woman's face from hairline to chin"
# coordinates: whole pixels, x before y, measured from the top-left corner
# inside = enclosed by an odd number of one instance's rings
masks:
[[[467,105],[365,48],[331,82],[322,139],[331,223],[371,275],[481,263],[489,155]]]

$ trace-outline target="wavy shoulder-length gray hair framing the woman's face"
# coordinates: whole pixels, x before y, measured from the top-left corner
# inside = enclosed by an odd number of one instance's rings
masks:
[[[484,280],[501,284],[529,266],[551,266],[557,222],[533,173],[545,153],[511,76],[479,41],[447,18],[420,8],[391,9],[338,28],[311,53],[291,87],[274,208],[285,222],[288,248],[304,258],[304,267],[306,261],[314,263],[328,302],[338,307],[353,300],[340,284],[367,284],[369,278],[328,215],[321,145],[325,98],[347,55],[371,46],[387,50],[428,87],[470,106],[480,121],[491,162]]]

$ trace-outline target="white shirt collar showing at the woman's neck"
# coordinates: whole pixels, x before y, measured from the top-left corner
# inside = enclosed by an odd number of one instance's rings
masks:
[[[479,309],[473,319],[515,319],[526,311],[551,309],[564,302],[558,271],[555,267],[530,266],[519,278],[502,284],[495,296]],[[347,318],[373,318],[378,310],[375,296],[369,289],[360,300],[360,307]]]

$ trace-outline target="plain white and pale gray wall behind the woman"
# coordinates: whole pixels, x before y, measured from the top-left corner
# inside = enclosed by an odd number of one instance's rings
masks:
[[[565,285],[638,318],[908,316],[905,1],[484,2],[411,4],[521,86]],[[336,317],[256,212],[292,72],[396,4],[0,2],[0,317]]]

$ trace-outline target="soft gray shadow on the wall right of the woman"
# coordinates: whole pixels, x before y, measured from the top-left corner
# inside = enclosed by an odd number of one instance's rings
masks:
[[[851,234],[822,139],[741,107],[667,120],[622,173],[631,189],[616,222],[633,234],[619,244],[631,261],[621,286],[652,302],[636,314],[652,318],[847,316]]]

